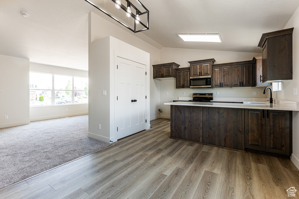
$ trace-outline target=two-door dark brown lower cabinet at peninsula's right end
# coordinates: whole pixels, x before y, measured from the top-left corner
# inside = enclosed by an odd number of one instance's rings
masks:
[[[245,109],[245,148],[291,155],[292,111]]]

